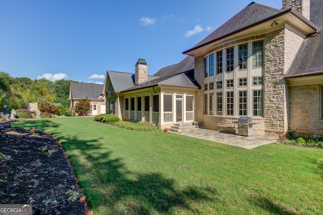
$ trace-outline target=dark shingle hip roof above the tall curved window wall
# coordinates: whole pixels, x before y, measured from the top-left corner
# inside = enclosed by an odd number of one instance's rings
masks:
[[[252,2],[234,17],[220,26],[217,30],[213,31],[191,49],[184,51],[183,53],[187,53],[190,50],[194,50],[212,41],[216,41],[222,37],[230,35],[231,33],[244,29],[281,12],[283,12],[283,10]]]

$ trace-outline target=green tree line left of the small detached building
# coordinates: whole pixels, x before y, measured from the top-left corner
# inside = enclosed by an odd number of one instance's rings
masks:
[[[71,82],[74,81],[62,79],[51,82],[45,78],[13,78],[9,73],[0,72],[0,111],[5,102],[10,110],[26,109],[29,102],[41,101],[62,103],[68,109]]]

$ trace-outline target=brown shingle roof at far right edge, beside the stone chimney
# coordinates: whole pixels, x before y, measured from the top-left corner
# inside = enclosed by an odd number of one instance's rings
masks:
[[[323,28],[323,4],[321,0],[310,1],[310,21]],[[286,78],[323,73],[323,33],[306,38],[286,73]]]

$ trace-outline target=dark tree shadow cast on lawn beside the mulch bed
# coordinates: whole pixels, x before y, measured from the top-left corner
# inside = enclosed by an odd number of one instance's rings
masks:
[[[79,159],[73,161],[74,166],[90,175],[90,180],[87,178],[79,182],[85,193],[90,194],[88,200],[94,211],[104,208],[102,210],[105,213],[111,214],[152,214],[169,213],[175,209],[200,214],[205,213],[205,208],[199,208],[201,203],[209,204],[206,207],[210,210],[214,202],[223,201],[213,188],[176,188],[177,182],[174,179],[167,179],[160,173],[135,173],[127,170],[127,165],[121,158],[111,158],[113,152],[103,149],[99,144],[88,144],[80,140],[76,142],[69,146],[71,150],[82,151],[82,156],[91,163],[84,167]],[[97,151],[100,153],[96,153]],[[91,184],[97,184],[97,187],[91,187]]]

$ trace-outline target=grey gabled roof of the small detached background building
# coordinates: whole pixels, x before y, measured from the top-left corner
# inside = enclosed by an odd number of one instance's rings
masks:
[[[102,92],[103,84],[71,82],[70,98],[98,99]]]

